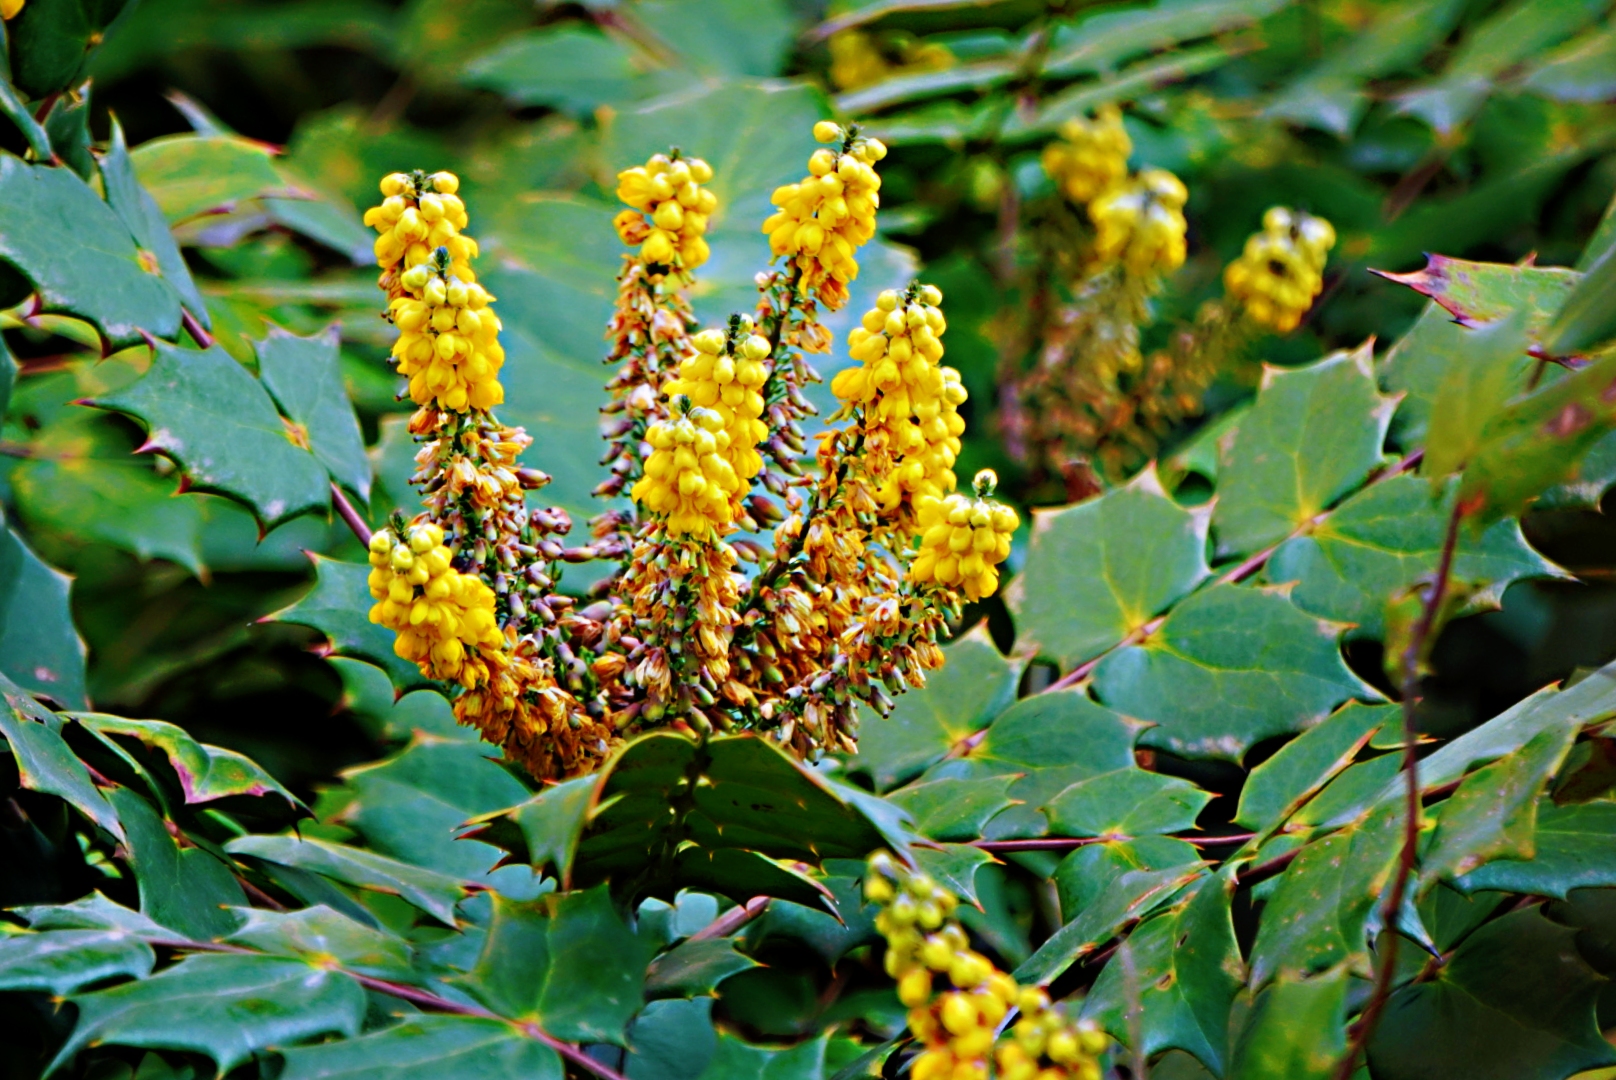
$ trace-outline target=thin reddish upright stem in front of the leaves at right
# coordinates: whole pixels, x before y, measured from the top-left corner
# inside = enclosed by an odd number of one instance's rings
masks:
[[[1375,1028],[1380,1027],[1380,1015],[1391,998],[1391,980],[1396,975],[1398,917],[1403,912],[1403,899],[1408,896],[1409,875],[1414,873],[1414,859],[1419,854],[1419,820],[1420,820],[1420,787],[1419,787],[1419,731],[1416,729],[1414,708],[1419,698],[1419,668],[1425,655],[1425,643],[1437,626],[1443,597],[1448,592],[1448,579],[1453,574],[1453,555],[1459,546],[1459,522],[1464,519],[1464,504],[1454,501],[1453,513],[1448,514],[1448,532],[1441,540],[1441,556],[1437,561],[1437,576],[1425,592],[1425,603],[1420,606],[1419,621],[1409,634],[1409,642],[1403,648],[1403,849],[1398,852],[1396,876],[1391,880],[1391,892],[1387,894],[1380,922],[1382,931],[1380,956],[1375,965],[1375,988],[1357,1014],[1357,1023],[1351,1027],[1351,1041],[1346,1054],[1335,1067],[1335,1080],[1351,1080]]]

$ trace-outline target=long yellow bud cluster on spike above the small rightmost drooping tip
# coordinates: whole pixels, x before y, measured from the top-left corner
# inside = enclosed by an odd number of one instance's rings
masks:
[[[865,454],[876,500],[889,513],[905,498],[942,498],[955,487],[966,394],[960,373],[939,364],[947,330],[941,302],[934,285],[881,293],[847,335],[860,365],[831,380],[839,399],[865,409]]]

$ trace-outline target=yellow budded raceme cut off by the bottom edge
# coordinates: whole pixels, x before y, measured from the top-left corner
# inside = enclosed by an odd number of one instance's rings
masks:
[[[877,904],[884,965],[898,983],[908,1027],[924,1049],[913,1080],[1099,1080],[1110,1040],[1089,1020],[1068,1020],[1037,986],[1018,986],[970,947],[953,917],[958,901],[887,852],[871,855],[865,899]],[[1020,1019],[995,1040],[1010,1010]]]

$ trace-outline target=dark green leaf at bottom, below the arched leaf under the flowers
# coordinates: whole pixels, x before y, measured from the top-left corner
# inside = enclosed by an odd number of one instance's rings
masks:
[[[648,949],[606,886],[533,902],[498,892],[488,943],[465,986],[503,1015],[564,1040],[624,1043],[643,1004]]]

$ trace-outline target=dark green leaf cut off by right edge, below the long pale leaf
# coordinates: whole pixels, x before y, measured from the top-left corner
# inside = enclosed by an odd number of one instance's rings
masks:
[[[1580,802],[1537,808],[1532,852],[1522,859],[1493,859],[1454,886],[1464,892],[1496,889],[1564,897],[1571,889],[1616,886],[1616,804]]]

